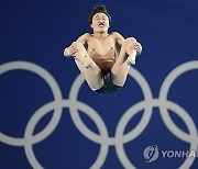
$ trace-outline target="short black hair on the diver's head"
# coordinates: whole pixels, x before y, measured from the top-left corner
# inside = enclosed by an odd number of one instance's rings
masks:
[[[92,9],[90,15],[89,15],[89,24],[92,23],[92,16],[96,14],[96,13],[105,13],[108,18],[109,18],[109,24],[111,23],[111,16],[110,14],[108,13],[107,9],[106,9],[106,5],[103,4],[97,4],[95,5],[95,8]]]

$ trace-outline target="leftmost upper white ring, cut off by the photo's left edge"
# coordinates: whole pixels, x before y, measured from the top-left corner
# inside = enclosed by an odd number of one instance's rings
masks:
[[[45,69],[43,69],[42,67],[40,67],[35,64],[28,63],[28,61],[11,61],[11,63],[3,64],[0,66],[0,75],[4,74],[7,71],[10,71],[10,70],[15,70],[15,69],[23,69],[23,70],[32,71],[32,72],[38,75],[50,86],[50,88],[53,92],[53,95],[54,95],[54,100],[57,103],[62,100],[62,92],[59,90],[59,87],[58,87],[56,80]],[[56,106],[52,120],[59,121],[61,114],[62,114],[62,108]],[[35,135],[35,137],[40,137],[40,135],[47,136],[47,133],[52,129],[52,127],[53,127],[53,125],[50,122],[48,125],[43,131],[41,131],[38,134]],[[0,138],[1,138],[1,142],[6,143],[8,145],[12,145],[12,146],[23,146],[25,144],[24,138],[15,138],[12,136],[8,136],[3,133],[0,133]]]

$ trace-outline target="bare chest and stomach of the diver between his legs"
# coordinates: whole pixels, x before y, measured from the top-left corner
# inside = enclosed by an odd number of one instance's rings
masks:
[[[107,34],[103,40],[97,38],[94,34],[86,34],[87,53],[98,65],[101,71],[109,71],[117,59],[117,36],[116,33]]]

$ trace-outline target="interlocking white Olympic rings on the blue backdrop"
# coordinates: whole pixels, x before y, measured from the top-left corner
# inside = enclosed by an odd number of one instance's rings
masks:
[[[44,104],[31,116],[25,127],[23,138],[16,138],[0,133],[0,140],[2,143],[10,146],[24,147],[26,158],[33,168],[44,168],[35,157],[33,145],[44,140],[53,133],[58,125],[64,108],[69,109],[72,120],[79,132],[91,142],[100,145],[98,157],[90,166],[92,169],[102,167],[109,151],[109,146],[116,147],[118,158],[124,168],[136,168],[132,161],[129,160],[123,145],[135,139],[146,128],[152,117],[153,108],[160,108],[161,117],[173,135],[183,142],[189,143],[189,149],[197,149],[198,134],[193,119],[180,105],[167,100],[167,94],[172,83],[177,77],[186,71],[198,69],[198,60],[185,63],[172,70],[161,87],[158,99],[154,99],[152,97],[151,88],[144,77],[138,70],[131,68],[129,75],[140,84],[143,91],[144,100],[133,104],[129,110],[125,111],[125,113],[123,113],[117,125],[114,137],[109,137],[108,128],[99,113],[97,113],[91,106],[77,100],[80,87],[85,81],[81,75],[79,75],[74,81],[68,99],[63,99],[56,80],[42,67],[28,61],[11,61],[0,66],[0,75],[14,69],[32,71],[42,77],[50,86],[54,97],[54,101]],[[78,110],[94,121],[99,134],[87,127],[87,125],[80,119]],[[142,110],[144,110],[144,113],[139,124],[132,131],[124,134],[124,129],[130,120]],[[182,131],[174,123],[169,116],[168,110],[175,112],[184,121],[189,133]],[[51,122],[43,131],[33,135],[36,124],[51,111],[54,111]],[[186,158],[186,160],[180,165],[180,168],[190,168],[195,158]]]

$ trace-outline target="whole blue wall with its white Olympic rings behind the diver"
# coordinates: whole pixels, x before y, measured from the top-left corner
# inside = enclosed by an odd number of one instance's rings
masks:
[[[113,94],[63,57],[96,3],[143,46]],[[198,145],[196,0],[1,0],[0,22],[0,168],[197,168],[175,156]]]

